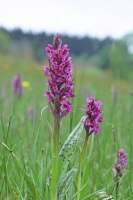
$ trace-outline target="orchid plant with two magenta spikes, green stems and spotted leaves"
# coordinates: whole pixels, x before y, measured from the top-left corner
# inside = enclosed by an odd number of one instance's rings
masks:
[[[80,199],[81,188],[81,171],[82,163],[85,155],[88,137],[94,133],[98,134],[101,130],[99,123],[102,122],[103,113],[100,106],[101,101],[96,101],[94,97],[87,98],[86,110],[83,110],[86,116],[82,117],[78,125],[69,135],[68,139],[59,150],[60,140],[60,123],[68,114],[73,112],[72,104],[69,99],[74,98],[74,82],[72,74],[72,61],[69,57],[69,49],[67,45],[61,46],[62,41],[57,34],[53,39],[53,45],[48,44],[46,47],[46,55],[48,57],[49,66],[44,66],[45,76],[48,77],[48,90],[44,94],[48,98],[48,105],[54,117],[53,131],[53,158],[52,171],[50,180],[50,196],[51,200],[64,199],[68,195],[68,188],[73,182],[76,174],[78,174],[77,192],[74,196]],[[79,164],[75,169],[69,168],[69,162],[74,154],[78,139],[81,132],[85,128],[86,137],[81,154],[79,155]],[[67,172],[66,172],[67,171]]]

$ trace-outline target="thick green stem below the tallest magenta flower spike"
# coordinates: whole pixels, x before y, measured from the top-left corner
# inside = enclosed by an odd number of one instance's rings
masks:
[[[52,180],[51,180],[51,200],[57,200],[57,185],[58,185],[58,156],[59,156],[59,123],[58,119],[54,119],[53,133],[53,159],[52,159]]]

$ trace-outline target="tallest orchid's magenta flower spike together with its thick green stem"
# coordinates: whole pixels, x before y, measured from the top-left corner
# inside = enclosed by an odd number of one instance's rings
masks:
[[[45,76],[48,77],[48,90],[44,95],[48,97],[49,108],[54,116],[54,151],[51,180],[51,199],[54,200],[57,199],[60,122],[64,116],[72,112],[72,104],[69,98],[75,97],[69,49],[67,45],[61,46],[61,44],[62,41],[57,34],[53,39],[53,45],[48,44],[45,49],[49,66],[44,66]]]

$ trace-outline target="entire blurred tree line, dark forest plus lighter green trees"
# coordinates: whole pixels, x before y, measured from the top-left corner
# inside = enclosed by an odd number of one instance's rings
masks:
[[[7,30],[0,28],[0,53],[28,57],[42,62],[46,59],[45,47],[53,41],[53,34],[46,32],[24,32],[21,29]],[[115,76],[128,78],[133,71],[133,54],[129,51],[129,43],[133,34],[119,40],[111,37],[99,39],[95,37],[77,37],[60,35],[63,44],[68,44],[70,54],[82,61],[101,69],[111,69]],[[130,48],[131,49],[131,48]]]

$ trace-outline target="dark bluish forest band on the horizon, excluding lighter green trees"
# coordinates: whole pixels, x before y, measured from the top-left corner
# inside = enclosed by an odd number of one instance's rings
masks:
[[[16,50],[14,52],[16,55],[18,55],[18,51],[20,57],[25,57],[25,54],[29,57],[32,55],[38,62],[41,62],[46,58],[44,48],[53,40],[53,34],[46,34],[45,32],[38,34],[32,32],[24,33],[21,29],[12,31],[0,29],[0,31],[4,31],[4,33],[6,33],[6,35],[11,39],[12,50],[13,52]],[[113,39],[111,38],[100,40],[89,36],[78,38],[76,36],[70,37],[67,35],[61,35],[61,39],[63,44],[68,44],[71,54],[76,57],[82,55],[90,57],[96,55],[113,42]]]

